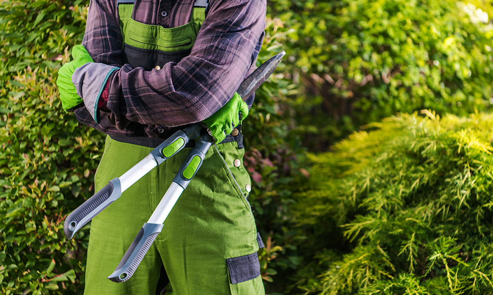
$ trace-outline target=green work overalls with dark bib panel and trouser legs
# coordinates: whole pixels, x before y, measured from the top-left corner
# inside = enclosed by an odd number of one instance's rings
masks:
[[[179,62],[190,53],[205,19],[194,7],[187,25],[164,29],[132,20],[133,1],[119,0],[124,63],[151,70]],[[212,146],[197,175],[166,219],[130,280],[114,283],[110,275],[171,184],[190,151],[183,148],[154,168],[91,224],[85,295],[154,295],[162,264],[176,295],[263,295],[256,252],[259,242],[246,196],[250,178],[243,165],[241,133]],[[96,172],[96,191],[148,155],[163,138],[106,138]],[[192,143],[193,144],[193,143]]]

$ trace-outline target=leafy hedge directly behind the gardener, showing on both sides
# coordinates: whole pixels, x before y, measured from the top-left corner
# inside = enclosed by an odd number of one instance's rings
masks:
[[[81,294],[90,223],[72,240],[63,222],[94,194],[104,135],[62,110],[57,71],[82,40],[88,0],[3,0],[0,8],[0,293]],[[279,21],[267,19],[259,63],[280,52]],[[26,37],[27,36],[27,37]],[[286,143],[279,103],[293,88],[283,66],[257,91],[244,126],[249,200],[267,249],[262,277],[299,258],[285,229],[299,151]],[[294,141],[293,141],[294,142]],[[304,171],[303,171],[304,172]],[[306,174],[306,172],[304,172]]]

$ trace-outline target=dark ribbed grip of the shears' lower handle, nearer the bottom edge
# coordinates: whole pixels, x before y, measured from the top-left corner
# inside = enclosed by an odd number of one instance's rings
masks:
[[[123,283],[130,279],[162,228],[163,224],[144,223],[120,263],[118,263],[115,271],[108,276],[108,279],[115,283]]]

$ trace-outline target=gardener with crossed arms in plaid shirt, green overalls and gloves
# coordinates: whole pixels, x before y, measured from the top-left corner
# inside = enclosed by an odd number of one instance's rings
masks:
[[[83,45],[72,49],[57,84],[63,108],[108,135],[96,191],[180,126],[202,122],[217,145],[127,282],[106,277],[190,149],[94,218],[84,294],[155,294],[162,265],[178,295],[264,294],[242,161],[240,123],[253,96],[245,103],[235,90],[254,69],[265,10],[265,0],[91,0]]]

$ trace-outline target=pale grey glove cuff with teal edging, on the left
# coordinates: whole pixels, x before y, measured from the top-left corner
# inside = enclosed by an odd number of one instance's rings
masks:
[[[72,75],[72,83],[75,85],[77,94],[98,124],[100,123],[99,99],[106,88],[109,77],[119,69],[102,63],[87,63],[77,68]]]

